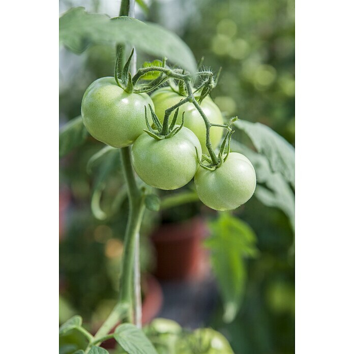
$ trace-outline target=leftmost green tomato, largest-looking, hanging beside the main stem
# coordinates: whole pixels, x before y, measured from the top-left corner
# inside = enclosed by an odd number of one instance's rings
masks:
[[[144,106],[149,103],[154,107],[149,95],[128,94],[114,77],[102,77],[83,95],[83,124],[94,138],[107,145],[128,146],[146,129]]]

